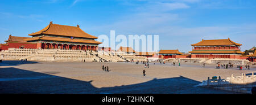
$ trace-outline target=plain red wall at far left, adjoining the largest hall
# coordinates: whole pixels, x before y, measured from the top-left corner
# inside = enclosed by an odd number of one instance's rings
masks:
[[[8,45],[2,45],[1,50],[8,50],[9,48],[19,48],[20,46],[24,46],[24,49],[36,49],[36,43],[12,43],[9,42]]]

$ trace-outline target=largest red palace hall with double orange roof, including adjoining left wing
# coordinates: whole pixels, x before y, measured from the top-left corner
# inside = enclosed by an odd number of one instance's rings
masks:
[[[95,41],[98,37],[92,36],[82,29],[68,25],[53,24],[52,21],[46,28],[28,34],[28,37],[10,36],[6,44],[1,44],[0,49],[66,49],[66,50],[97,50],[102,42]]]

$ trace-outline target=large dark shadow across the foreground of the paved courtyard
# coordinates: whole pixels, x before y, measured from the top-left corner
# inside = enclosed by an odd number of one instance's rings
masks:
[[[155,78],[139,84],[102,88],[94,87],[91,82],[13,67],[0,68],[0,93],[234,93],[196,87],[195,85],[200,82],[183,76],[163,79]]]

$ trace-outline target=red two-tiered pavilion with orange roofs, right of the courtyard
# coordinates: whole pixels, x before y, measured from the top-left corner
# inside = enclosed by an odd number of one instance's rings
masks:
[[[240,51],[242,44],[225,40],[202,40],[192,44],[191,58],[237,58],[242,59]]]

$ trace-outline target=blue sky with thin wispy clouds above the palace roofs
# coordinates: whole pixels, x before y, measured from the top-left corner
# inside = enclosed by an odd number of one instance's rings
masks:
[[[53,21],[94,36],[158,34],[159,49],[188,52],[202,38],[230,38],[244,51],[256,46],[255,11],[254,0],[1,0],[0,43]]]

